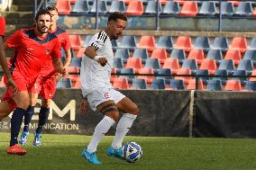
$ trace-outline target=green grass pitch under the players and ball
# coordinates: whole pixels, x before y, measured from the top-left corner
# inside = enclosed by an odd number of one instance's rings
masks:
[[[25,156],[9,156],[9,133],[0,133],[0,169],[96,169],[96,170],[234,170],[256,169],[255,139],[204,139],[171,137],[126,137],[142,146],[143,157],[127,163],[105,155],[113,137],[99,144],[97,156],[102,165],[90,165],[81,151],[91,137],[81,135],[42,135],[41,147],[32,146],[31,134],[24,148]]]

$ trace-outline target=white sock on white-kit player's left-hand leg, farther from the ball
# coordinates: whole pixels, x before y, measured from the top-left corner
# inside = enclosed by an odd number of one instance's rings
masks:
[[[97,145],[98,145],[100,139],[102,139],[102,137],[105,136],[105,133],[110,129],[110,127],[113,124],[114,124],[113,119],[111,119],[108,116],[104,116],[102,121],[100,121],[96,125],[94,135],[93,135],[89,145],[87,146],[87,151],[88,152],[96,152],[96,148],[97,148]]]

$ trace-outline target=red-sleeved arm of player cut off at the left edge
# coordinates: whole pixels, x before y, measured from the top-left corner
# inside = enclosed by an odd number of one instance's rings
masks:
[[[4,49],[4,37],[5,37],[5,18],[0,16],[0,64],[3,67],[3,70],[5,72],[5,76],[7,78],[7,84],[6,86],[13,86],[13,90],[15,91],[17,89],[13,77],[9,71],[7,59],[5,56],[5,49]]]

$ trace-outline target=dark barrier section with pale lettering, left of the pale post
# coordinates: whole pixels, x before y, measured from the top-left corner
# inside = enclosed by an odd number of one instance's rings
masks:
[[[3,91],[2,91],[3,92]],[[122,91],[137,103],[139,116],[134,121],[129,135],[134,136],[188,136],[187,105],[188,92],[166,91]],[[91,135],[96,124],[102,119],[99,112],[78,112],[80,90],[58,90],[50,105],[50,117],[44,133]],[[41,100],[39,100],[39,103]],[[40,104],[35,108],[31,129],[35,130]],[[115,125],[114,125],[115,127]],[[115,128],[108,135],[114,135]],[[10,118],[0,122],[1,131],[10,131]]]

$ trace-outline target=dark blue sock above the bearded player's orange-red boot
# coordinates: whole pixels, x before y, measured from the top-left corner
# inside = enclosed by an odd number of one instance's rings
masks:
[[[22,108],[16,108],[13,112],[12,120],[11,120],[11,141],[10,147],[14,146],[18,143],[18,135],[22,126],[23,116],[26,113],[26,110]]]

